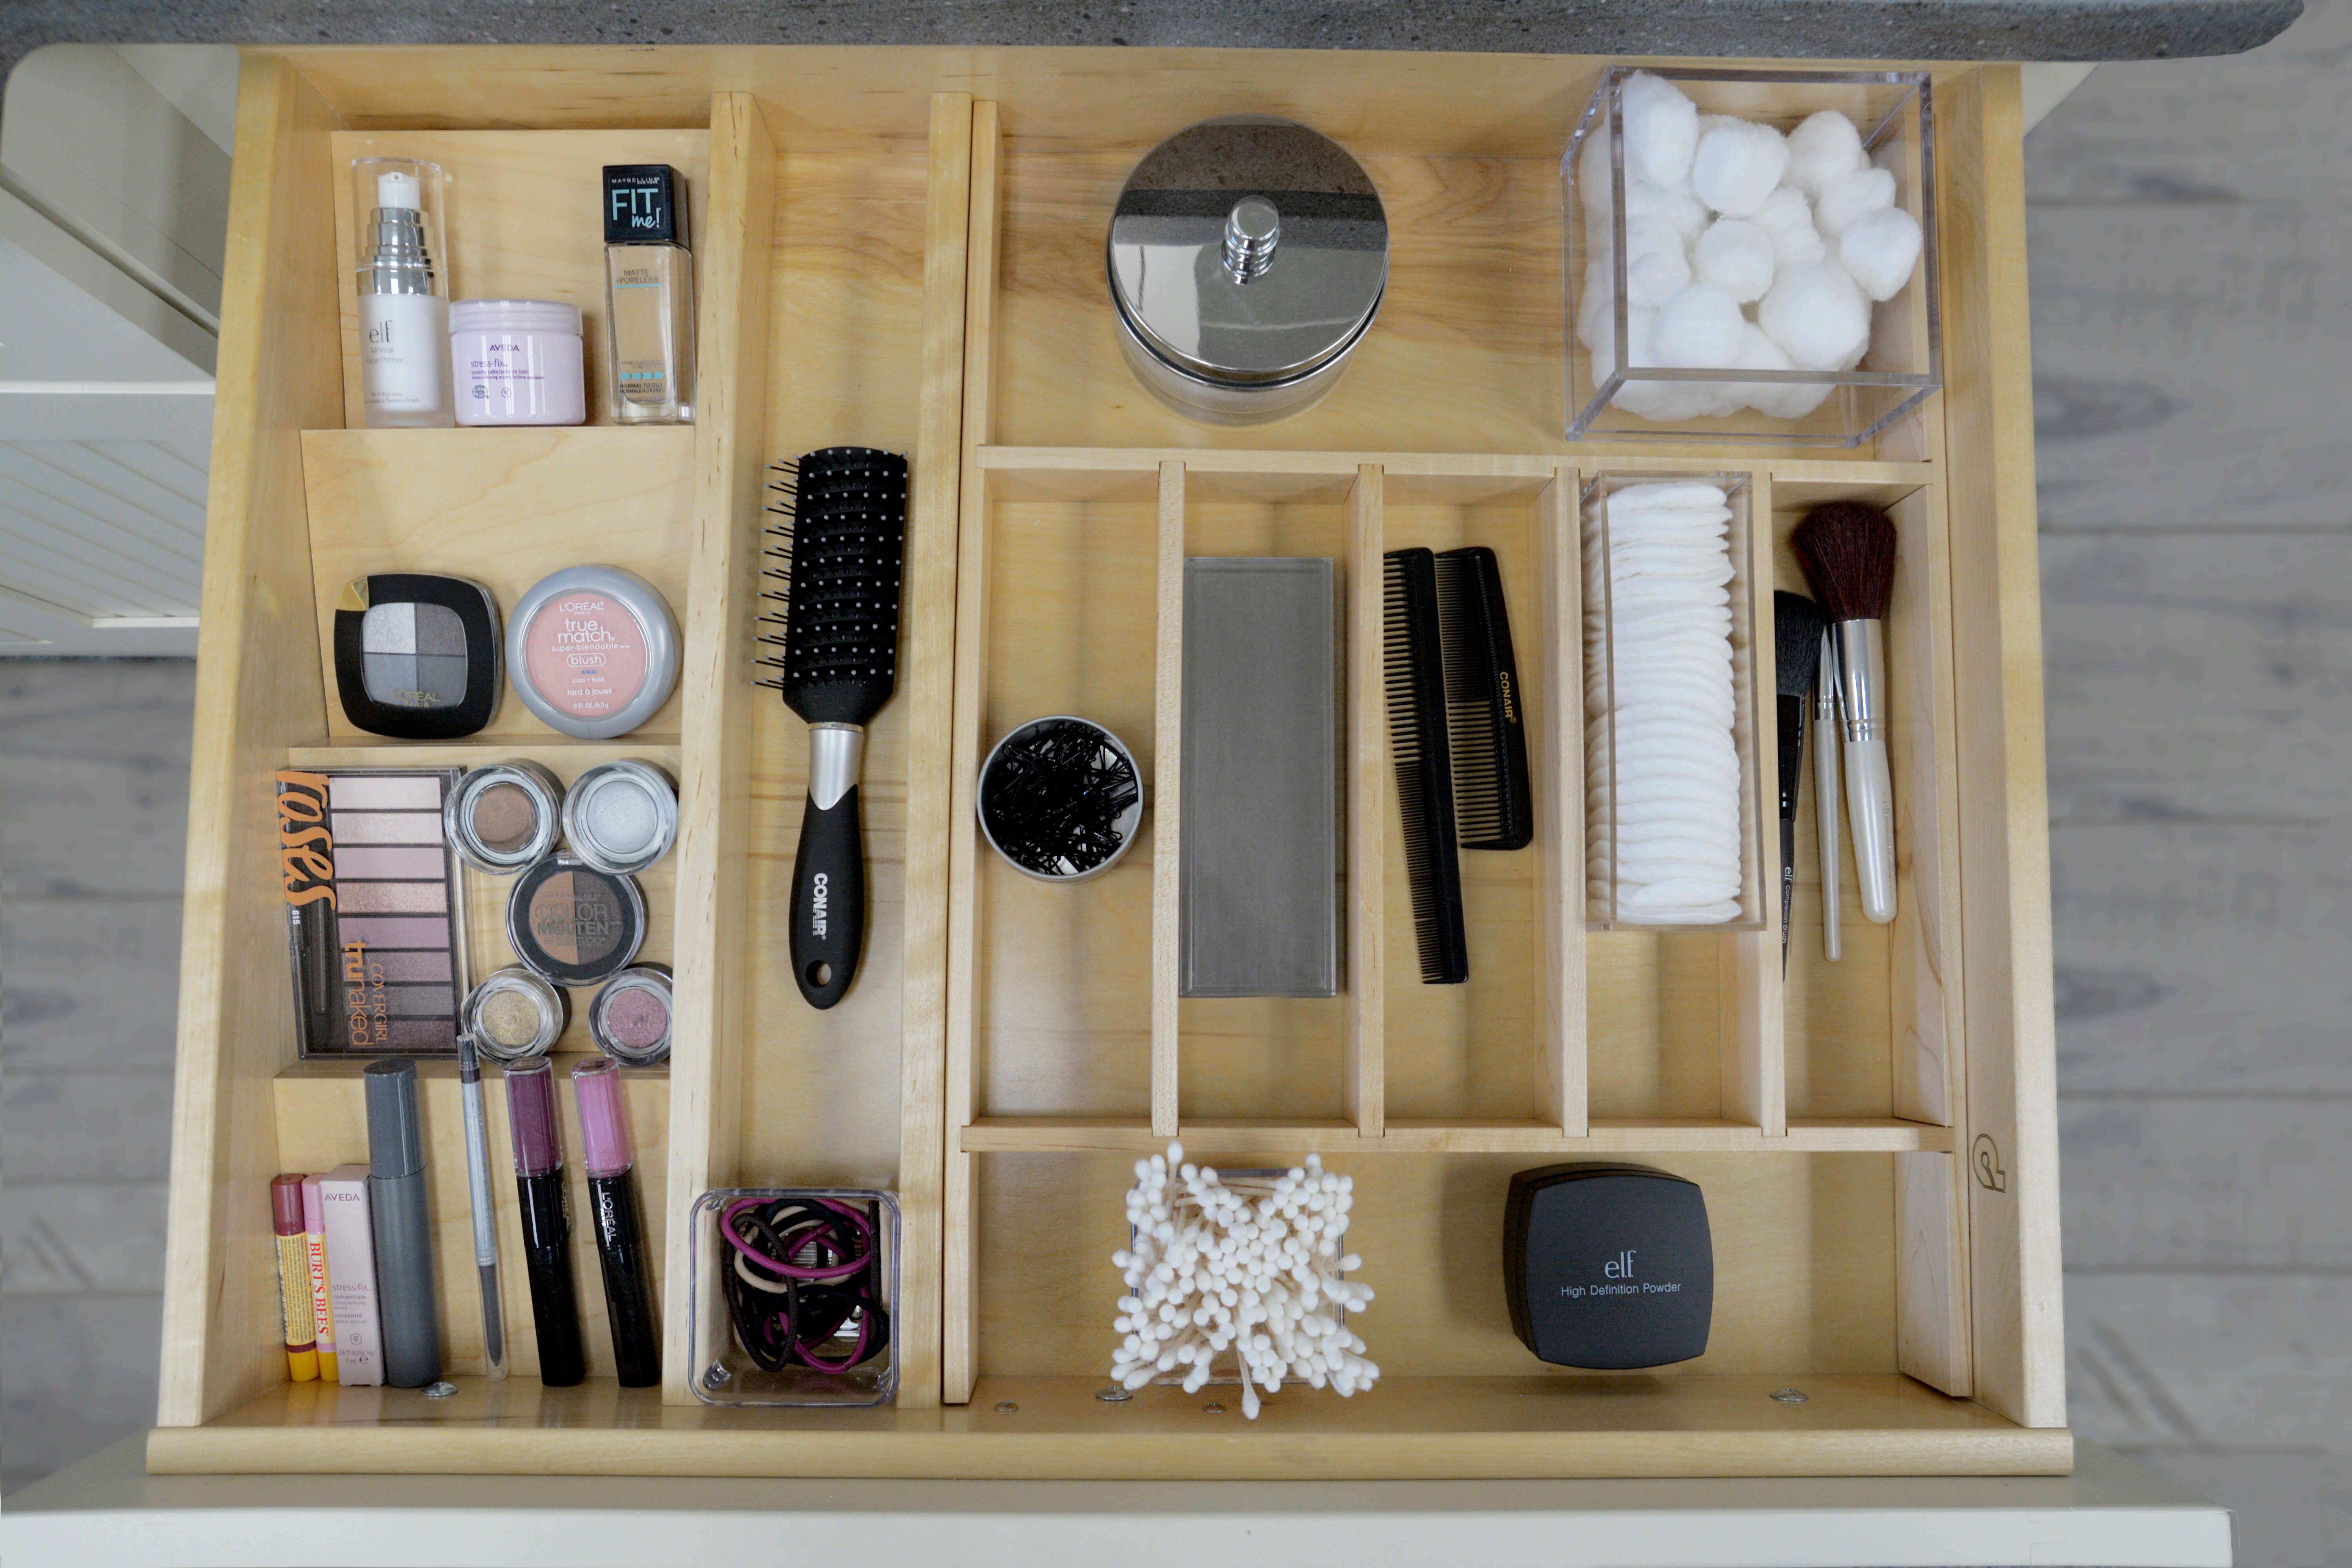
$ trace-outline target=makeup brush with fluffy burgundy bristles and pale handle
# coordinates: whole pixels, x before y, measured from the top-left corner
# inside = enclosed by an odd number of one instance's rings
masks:
[[[1896,588],[1896,524],[1860,501],[1806,512],[1790,536],[1804,581],[1830,616],[1837,705],[1846,722],[1846,816],[1863,917],[1896,917],[1896,792],[1886,771],[1886,604]]]

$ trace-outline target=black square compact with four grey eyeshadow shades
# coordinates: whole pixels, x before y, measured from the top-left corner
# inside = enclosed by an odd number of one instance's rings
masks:
[[[475,733],[499,712],[499,602],[459,576],[353,578],[334,602],[334,689],[374,736]]]

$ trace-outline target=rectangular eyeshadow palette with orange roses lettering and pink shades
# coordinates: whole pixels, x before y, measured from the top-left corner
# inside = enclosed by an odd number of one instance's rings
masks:
[[[466,910],[442,806],[461,773],[278,773],[303,1056],[456,1053]]]

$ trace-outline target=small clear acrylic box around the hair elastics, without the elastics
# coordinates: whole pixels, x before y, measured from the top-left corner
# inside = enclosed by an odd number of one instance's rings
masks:
[[[833,1199],[858,1204],[873,1220],[880,1251],[882,1302],[891,1314],[894,1338],[870,1361],[842,1373],[814,1366],[767,1371],[736,1338],[727,1312],[720,1269],[734,1267],[734,1246],[720,1234],[720,1218],[736,1199]],[[713,1406],[811,1406],[858,1408],[887,1406],[898,1394],[898,1194],[880,1187],[720,1187],[694,1199],[691,1239],[687,1244],[687,1312],[694,1319],[694,1396]],[[828,1347],[847,1352],[851,1335],[837,1335]],[[840,1356],[828,1356],[840,1359]]]

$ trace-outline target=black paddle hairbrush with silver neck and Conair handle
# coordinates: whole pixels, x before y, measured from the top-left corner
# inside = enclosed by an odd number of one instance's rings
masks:
[[[760,642],[776,670],[762,686],[809,724],[809,802],[793,858],[793,983],[809,1006],[849,990],[866,943],[866,856],[858,842],[858,764],[866,726],[898,675],[898,578],[906,567],[906,458],[826,447],[774,463]]]

